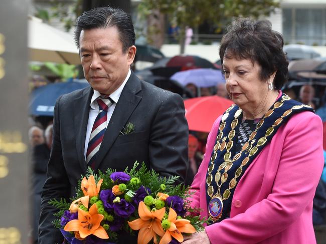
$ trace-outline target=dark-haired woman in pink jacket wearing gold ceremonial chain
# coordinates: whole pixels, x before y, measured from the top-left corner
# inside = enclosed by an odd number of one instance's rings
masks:
[[[214,123],[192,205],[210,216],[183,243],[315,243],[312,198],[323,166],[322,123],[280,88],[284,41],[266,20],[237,19],[220,45],[234,105]]]

